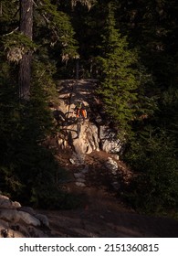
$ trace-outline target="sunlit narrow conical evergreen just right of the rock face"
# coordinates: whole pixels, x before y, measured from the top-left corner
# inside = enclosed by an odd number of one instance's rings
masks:
[[[127,38],[116,28],[114,8],[108,5],[108,17],[103,33],[99,57],[102,69],[100,93],[106,111],[119,124],[120,131],[129,132],[137,102],[137,54],[129,49]]]

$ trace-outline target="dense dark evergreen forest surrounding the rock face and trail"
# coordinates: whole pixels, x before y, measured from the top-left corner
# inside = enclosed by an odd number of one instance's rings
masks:
[[[56,133],[47,106],[58,80],[98,79],[122,160],[137,173],[121,197],[176,215],[177,14],[175,0],[0,0],[1,193],[36,207],[74,202],[42,145]]]

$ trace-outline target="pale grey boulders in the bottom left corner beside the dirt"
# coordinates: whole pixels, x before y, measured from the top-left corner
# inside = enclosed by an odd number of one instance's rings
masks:
[[[48,230],[46,216],[0,195],[0,238],[45,238]]]

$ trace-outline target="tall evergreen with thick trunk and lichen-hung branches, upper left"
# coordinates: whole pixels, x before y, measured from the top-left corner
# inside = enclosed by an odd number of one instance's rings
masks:
[[[3,1],[4,4],[4,1]],[[69,17],[57,10],[57,5],[53,5],[50,0],[43,1],[19,1],[20,16],[18,10],[8,12],[9,5],[5,3],[5,12],[2,13],[2,23],[5,20],[6,32],[2,33],[2,42],[7,53],[7,59],[19,64],[19,96],[28,98],[30,91],[31,60],[40,59],[43,61],[42,52],[46,52],[46,58],[58,50],[58,59],[67,62],[68,59],[79,57],[77,52],[77,42],[74,39],[74,30],[71,26]],[[33,15],[34,13],[34,15]],[[4,17],[5,15],[12,17]],[[11,19],[15,19],[17,27],[12,27]],[[7,20],[11,22],[7,23]],[[34,22],[33,22],[34,19]],[[33,27],[33,38],[32,38]],[[37,50],[37,54],[32,52]],[[39,58],[38,58],[39,57]],[[46,59],[46,60],[47,60]],[[50,60],[49,60],[50,62]],[[53,60],[54,62],[54,60]]]

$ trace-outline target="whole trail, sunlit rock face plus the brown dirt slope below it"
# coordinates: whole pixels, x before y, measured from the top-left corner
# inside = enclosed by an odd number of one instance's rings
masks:
[[[77,209],[42,210],[49,220],[52,237],[178,237],[178,221],[141,215],[118,197],[121,182],[128,183],[131,170],[118,157],[120,141],[105,120],[94,95],[97,82],[65,80],[58,88],[58,105],[52,106],[58,135],[48,146],[56,150],[68,171],[63,187],[79,197]],[[88,118],[76,120],[75,105],[83,101]]]

